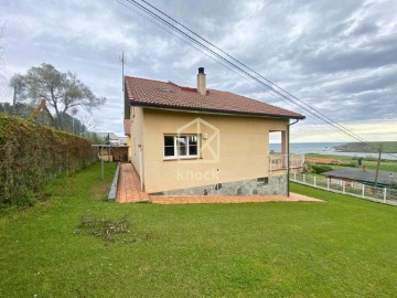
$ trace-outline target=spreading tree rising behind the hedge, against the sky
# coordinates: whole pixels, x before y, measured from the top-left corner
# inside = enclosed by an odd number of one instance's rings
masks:
[[[25,75],[15,74],[11,85],[17,86],[19,100],[31,100],[37,104],[45,99],[55,111],[56,125],[65,129],[65,115],[76,114],[79,108],[92,111],[106,103],[105,97],[97,97],[81,82],[76,74],[62,73],[51,64],[31,67]]]

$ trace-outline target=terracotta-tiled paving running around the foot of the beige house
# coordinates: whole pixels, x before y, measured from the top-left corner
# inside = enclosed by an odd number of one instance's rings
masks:
[[[189,204],[189,203],[262,203],[262,202],[323,202],[319,199],[307,195],[290,193],[290,196],[282,195],[186,195],[167,196],[149,195],[140,190],[140,179],[131,163],[121,163],[120,178],[117,191],[117,202],[152,202],[155,204]]]

